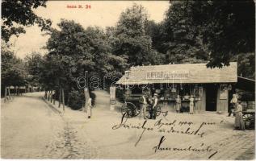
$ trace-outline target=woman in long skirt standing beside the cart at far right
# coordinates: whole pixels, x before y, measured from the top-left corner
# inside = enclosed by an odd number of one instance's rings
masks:
[[[241,101],[237,101],[237,107],[235,109],[235,128],[234,130],[245,130],[245,122],[242,119],[242,106],[241,106]]]

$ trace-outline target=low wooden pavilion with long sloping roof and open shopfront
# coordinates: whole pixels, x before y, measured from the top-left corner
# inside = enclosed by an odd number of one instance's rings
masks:
[[[116,82],[128,96],[158,93],[168,108],[174,108],[175,98],[182,106],[195,99],[195,111],[228,112],[230,96],[237,83],[237,62],[223,68],[207,68],[206,64],[165,64],[132,67]]]

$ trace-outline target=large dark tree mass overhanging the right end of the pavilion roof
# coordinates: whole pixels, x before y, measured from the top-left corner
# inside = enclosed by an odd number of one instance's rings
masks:
[[[254,17],[253,0],[175,1],[166,12],[166,53],[229,65],[234,55],[254,52]]]

